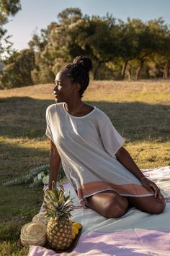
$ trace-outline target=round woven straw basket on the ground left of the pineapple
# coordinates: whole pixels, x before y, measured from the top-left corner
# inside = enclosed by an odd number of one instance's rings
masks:
[[[46,226],[40,222],[30,222],[22,226],[21,242],[24,246],[41,245],[46,242]]]

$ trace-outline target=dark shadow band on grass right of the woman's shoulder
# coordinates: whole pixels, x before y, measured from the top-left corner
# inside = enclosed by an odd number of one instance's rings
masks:
[[[111,119],[112,124],[126,140],[169,140],[170,108],[148,103],[108,103],[97,102]]]

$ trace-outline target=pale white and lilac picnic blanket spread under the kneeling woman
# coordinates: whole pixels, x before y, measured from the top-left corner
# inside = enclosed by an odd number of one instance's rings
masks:
[[[170,166],[143,170],[143,173],[161,188],[166,198],[164,213],[151,215],[130,208],[121,218],[104,218],[81,206],[71,185],[65,184],[74,197],[72,220],[80,222],[83,229],[73,251],[60,255],[170,255]],[[41,246],[30,247],[29,256],[50,255],[59,254]]]

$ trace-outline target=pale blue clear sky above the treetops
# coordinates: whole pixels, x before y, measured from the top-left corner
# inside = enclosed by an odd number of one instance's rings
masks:
[[[107,12],[126,22],[130,17],[144,22],[162,17],[170,25],[170,0],[21,0],[22,10],[5,25],[16,50],[27,48],[33,33],[40,33],[50,22],[57,22],[58,13],[68,7],[83,14],[105,16]]]

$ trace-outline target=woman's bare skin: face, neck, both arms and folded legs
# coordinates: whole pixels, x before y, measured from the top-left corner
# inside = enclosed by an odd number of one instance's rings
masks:
[[[55,101],[58,103],[65,102],[66,111],[68,111],[69,114],[73,114],[73,116],[84,116],[94,109],[81,101],[79,90],[79,83],[71,84],[71,80],[67,77],[66,72],[61,71],[55,77],[55,87],[53,88]],[[146,187],[153,196],[122,197],[115,191],[107,190],[87,197],[86,207],[96,210],[107,218],[117,218],[124,215],[129,206],[135,206],[135,208],[146,213],[162,213],[166,204],[157,185],[143,175],[142,171],[140,171],[135,161],[133,161],[133,158],[124,147],[121,147],[115,155],[117,161],[120,161],[128,171],[134,174],[141,181],[143,187]],[[57,180],[60,163],[61,158],[58,154],[58,150],[53,142],[50,141],[49,189],[51,189],[52,181]]]

